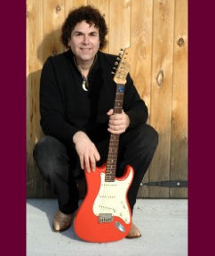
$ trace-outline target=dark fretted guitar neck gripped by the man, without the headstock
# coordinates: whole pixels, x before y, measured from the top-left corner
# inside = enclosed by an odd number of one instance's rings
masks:
[[[114,114],[120,114],[123,111],[123,95],[124,85],[116,84]],[[106,181],[115,181],[118,147],[119,135],[111,134],[108,148],[108,161],[106,166]]]

